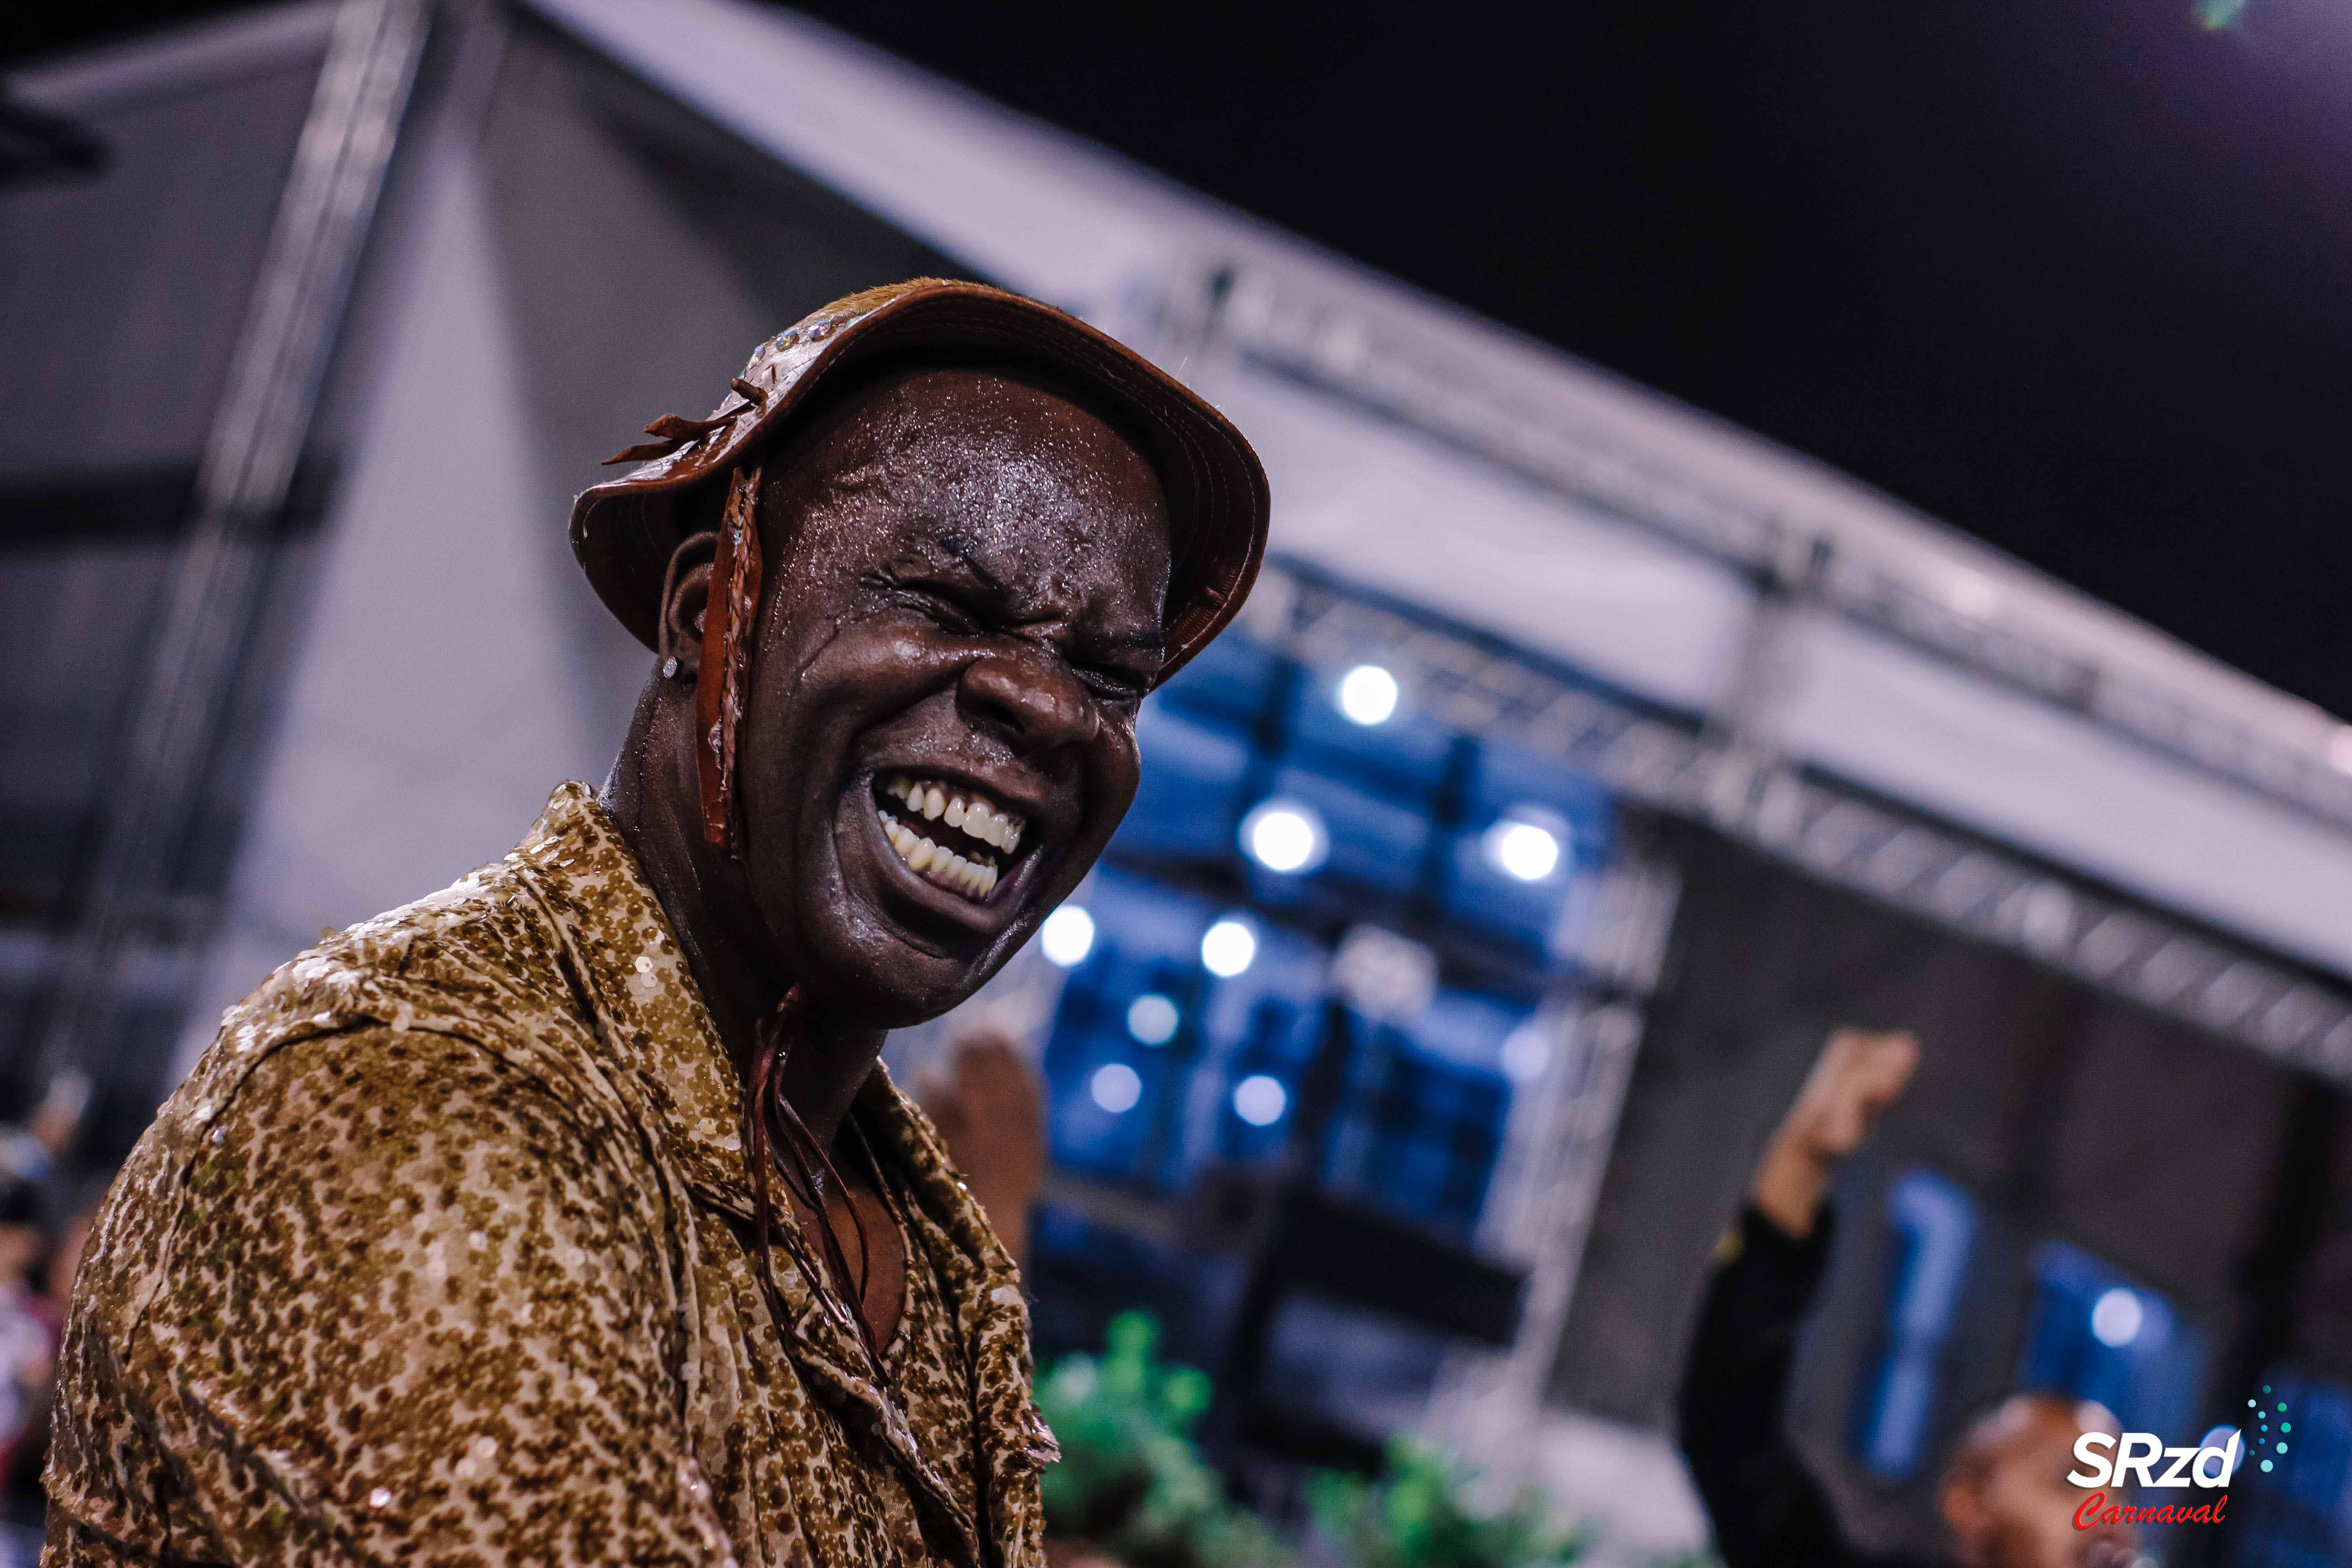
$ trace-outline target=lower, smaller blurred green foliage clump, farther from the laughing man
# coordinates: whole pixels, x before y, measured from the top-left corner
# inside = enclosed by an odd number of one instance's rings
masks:
[[[1350,1568],[1550,1568],[1588,1549],[1581,1530],[1557,1530],[1536,1488],[1501,1509],[1470,1502],[1477,1476],[1428,1443],[1388,1443],[1378,1481],[1324,1472],[1308,1486],[1315,1523]]]

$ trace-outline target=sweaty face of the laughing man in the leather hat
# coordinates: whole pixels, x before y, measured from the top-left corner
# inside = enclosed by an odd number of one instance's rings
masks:
[[[1136,795],[1167,501],[1101,418],[978,369],[891,376],[767,475],[736,752],[753,898],[828,1006],[931,1018]]]

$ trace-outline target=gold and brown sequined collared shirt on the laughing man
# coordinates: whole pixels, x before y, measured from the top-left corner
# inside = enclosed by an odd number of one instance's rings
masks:
[[[880,1067],[854,1112],[908,1244],[877,1387],[783,1248],[783,1321],[755,1284],[739,1107],[583,785],[294,959],[92,1234],[42,1561],[1042,1568],[1018,1272],[929,1121]]]

